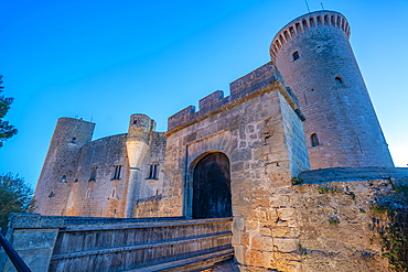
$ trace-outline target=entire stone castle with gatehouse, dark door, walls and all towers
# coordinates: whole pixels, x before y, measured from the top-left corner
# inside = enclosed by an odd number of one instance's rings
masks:
[[[167,132],[132,115],[128,133],[92,141],[95,123],[58,119],[36,213],[234,217],[236,260],[255,265],[248,252],[256,247],[245,239],[264,237],[262,221],[292,220],[293,207],[278,197],[291,178],[319,168],[394,167],[350,34],[339,12],[292,20],[273,37],[271,62],[233,81],[229,96],[217,90],[198,110],[171,116]],[[276,247],[297,249],[298,238],[284,239]]]

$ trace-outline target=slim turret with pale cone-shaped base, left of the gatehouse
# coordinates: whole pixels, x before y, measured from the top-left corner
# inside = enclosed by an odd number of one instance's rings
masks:
[[[144,115],[132,115],[130,117],[128,139],[126,142],[130,174],[125,217],[133,217],[135,204],[138,192],[140,191],[138,185],[141,183],[141,164],[149,150],[151,133],[154,130],[155,122],[150,117]]]

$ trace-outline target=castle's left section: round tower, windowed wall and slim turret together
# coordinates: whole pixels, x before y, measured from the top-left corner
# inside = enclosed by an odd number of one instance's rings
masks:
[[[133,123],[136,119],[138,121]],[[68,122],[68,126],[62,129],[61,123],[65,122]],[[147,122],[149,123],[148,130],[141,133],[146,146],[142,146],[141,153],[135,155],[131,145],[138,144],[138,128]],[[87,131],[87,141],[82,140],[82,131],[75,129],[84,126],[92,128]],[[154,131],[155,122],[147,116],[133,115],[130,118],[129,133],[90,142],[94,126],[94,123],[72,118],[58,120],[35,191],[37,213],[132,217],[138,199],[161,194],[165,137],[162,132]],[[73,138],[75,142],[72,142]],[[54,148],[65,145],[75,150],[75,153],[71,155],[65,150],[61,151],[62,148]],[[136,149],[138,148],[140,146],[137,145]],[[135,157],[139,160],[135,171],[130,171],[129,152],[133,152],[133,161]],[[57,161],[55,156],[61,159]],[[131,176],[132,172],[138,175]],[[64,175],[65,179],[62,182]],[[130,216],[126,215],[127,210],[130,210]]]

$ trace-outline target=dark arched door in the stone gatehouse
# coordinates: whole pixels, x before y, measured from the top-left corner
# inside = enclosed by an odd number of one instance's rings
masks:
[[[230,217],[229,160],[221,153],[210,153],[194,167],[193,218]]]

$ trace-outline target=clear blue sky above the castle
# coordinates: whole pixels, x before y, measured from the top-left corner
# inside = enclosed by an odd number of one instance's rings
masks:
[[[408,0],[325,0],[351,43],[397,166],[408,164]],[[61,117],[96,122],[94,139],[125,133],[132,113],[167,119],[270,61],[275,34],[308,13],[304,0],[6,1],[0,74],[18,135],[0,173],[35,187]],[[311,11],[321,1],[309,0]]]

